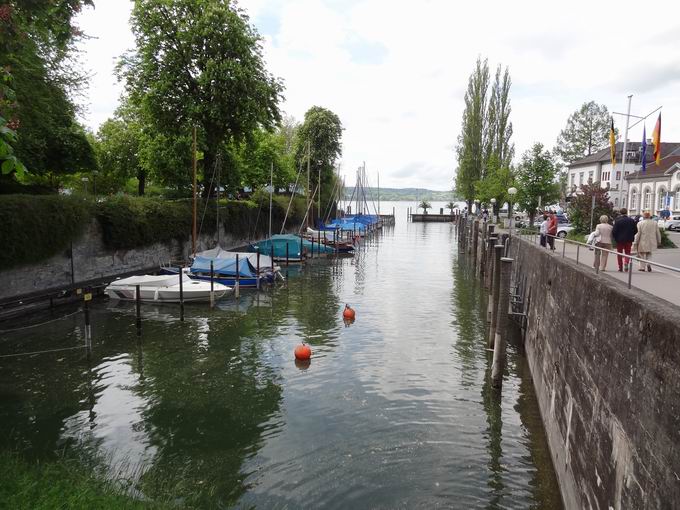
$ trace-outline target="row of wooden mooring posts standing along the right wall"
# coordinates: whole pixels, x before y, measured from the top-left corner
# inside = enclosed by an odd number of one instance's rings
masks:
[[[507,257],[510,237],[496,232],[496,225],[475,217],[456,218],[459,251],[471,257],[475,275],[489,293],[486,321],[489,324],[488,347],[493,350],[491,382],[503,384],[506,346],[510,333],[510,285],[513,259]]]

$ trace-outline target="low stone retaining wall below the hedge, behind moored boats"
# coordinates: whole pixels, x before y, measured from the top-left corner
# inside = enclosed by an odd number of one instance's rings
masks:
[[[216,236],[199,236],[196,249],[213,248],[215,243]],[[224,229],[220,233],[220,244],[225,249],[247,243],[246,239]],[[173,240],[130,250],[110,250],[104,245],[99,222],[92,220],[83,235],[73,243],[72,250],[69,248],[39,264],[0,271],[0,300],[124,273],[158,269],[161,264],[170,261],[187,260],[190,252],[191,240]]]

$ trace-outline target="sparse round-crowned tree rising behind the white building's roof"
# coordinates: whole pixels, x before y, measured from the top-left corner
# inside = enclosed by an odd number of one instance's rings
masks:
[[[609,130],[607,107],[595,101],[583,103],[567,119],[567,126],[557,138],[555,154],[565,164],[590,156],[609,145]]]

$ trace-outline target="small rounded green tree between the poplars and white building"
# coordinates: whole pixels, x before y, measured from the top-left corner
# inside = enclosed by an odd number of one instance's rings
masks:
[[[559,198],[559,186],[555,181],[556,170],[552,154],[545,150],[543,144],[535,143],[522,155],[522,162],[517,168],[517,203],[529,215],[530,225],[541,203],[549,204]]]

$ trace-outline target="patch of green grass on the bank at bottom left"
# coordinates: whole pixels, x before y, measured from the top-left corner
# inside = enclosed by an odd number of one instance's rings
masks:
[[[105,480],[75,458],[30,463],[13,452],[0,453],[0,508],[166,509],[171,505],[140,501]]]

